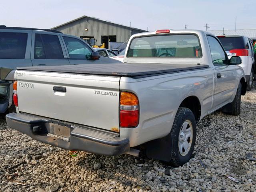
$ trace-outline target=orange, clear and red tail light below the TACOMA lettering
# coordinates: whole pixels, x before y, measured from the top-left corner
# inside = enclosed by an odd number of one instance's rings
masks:
[[[135,94],[121,92],[120,95],[120,126],[136,127],[139,123],[139,101]]]

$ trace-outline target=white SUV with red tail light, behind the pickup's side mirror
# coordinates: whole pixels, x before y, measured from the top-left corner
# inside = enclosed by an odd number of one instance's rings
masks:
[[[229,58],[231,56],[240,56],[242,59],[240,66],[243,68],[246,76],[247,90],[251,90],[255,68],[253,41],[248,37],[240,35],[222,35],[217,37]]]

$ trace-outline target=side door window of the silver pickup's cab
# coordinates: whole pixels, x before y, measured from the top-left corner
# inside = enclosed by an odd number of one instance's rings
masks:
[[[224,50],[222,49],[220,43],[216,38],[212,36],[207,36],[209,46],[210,46],[210,51],[212,55],[212,63],[214,65],[223,65],[223,64],[228,64],[226,60],[226,55]]]

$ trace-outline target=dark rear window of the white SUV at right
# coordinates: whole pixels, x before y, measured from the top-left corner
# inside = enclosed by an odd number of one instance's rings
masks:
[[[219,40],[225,51],[232,49],[249,49],[248,41],[245,37],[221,37]]]

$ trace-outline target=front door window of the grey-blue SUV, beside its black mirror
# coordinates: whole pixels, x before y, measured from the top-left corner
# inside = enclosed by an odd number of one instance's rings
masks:
[[[65,44],[68,48],[70,59],[86,59],[92,54],[92,50],[81,40],[63,36]]]

